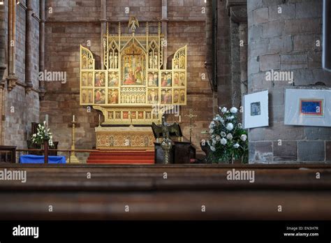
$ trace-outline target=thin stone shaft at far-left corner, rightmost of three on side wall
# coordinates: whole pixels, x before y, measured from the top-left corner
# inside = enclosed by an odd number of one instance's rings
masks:
[[[39,23],[39,72],[45,71],[45,0],[40,0]],[[44,81],[39,80],[39,98],[43,99],[46,93]]]

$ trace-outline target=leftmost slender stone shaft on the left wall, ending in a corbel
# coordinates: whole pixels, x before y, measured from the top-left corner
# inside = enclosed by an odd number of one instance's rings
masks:
[[[15,76],[16,48],[16,1],[8,0],[8,91],[16,86]]]

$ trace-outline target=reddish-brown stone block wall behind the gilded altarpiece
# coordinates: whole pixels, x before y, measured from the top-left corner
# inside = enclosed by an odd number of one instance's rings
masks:
[[[150,32],[156,33],[157,22],[162,17],[162,1],[106,1],[106,15],[110,33],[117,33],[117,22],[122,21],[122,31],[127,31],[128,17],[136,15],[140,29],[145,31],[145,22],[150,22]],[[194,128],[193,142],[198,145],[204,137],[200,131],[207,130],[212,119],[212,91],[207,78],[205,62],[205,13],[203,0],[168,1],[168,56],[184,45],[188,45],[188,102],[182,107],[182,128],[189,138],[189,109],[193,108],[198,117]],[[100,1],[56,1],[46,2],[47,13],[45,68],[47,71],[65,71],[66,84],[47,82],[44,101],[41,101],[41,118],[50,115],[50,128],[54,139],[60,141],[61,149],[71,146],[72,115],[76,115],[79,127],[76,134],[78,149],[91,149],[95,146],[94,127],[98,124],[98,112],[87,113],[79,105],[79,48],[91,40],[91,51],[100,67],[101,4]],[[126,13],[126,8],[129,12]],[[98,66],[99,65],[99,66]],[[178,117],[169,116],[168,121]],[[198,146],[200,148],[200,146]]]

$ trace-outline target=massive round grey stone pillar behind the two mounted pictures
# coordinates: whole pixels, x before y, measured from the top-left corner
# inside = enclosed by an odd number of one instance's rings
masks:
[[[284,125],[284,91],[291,85],[331,86],[321,65],[322,1],[248,1],[249,92],[269,91],[270,125],[249,129],[249,163],[331,161],[331,128]],[[293,73],[272,82],[268,71]]]

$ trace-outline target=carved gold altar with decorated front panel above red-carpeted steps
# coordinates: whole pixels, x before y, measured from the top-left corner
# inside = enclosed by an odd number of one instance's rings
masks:
[[[154,149],[150,126],[98,126],[96,149]]]

